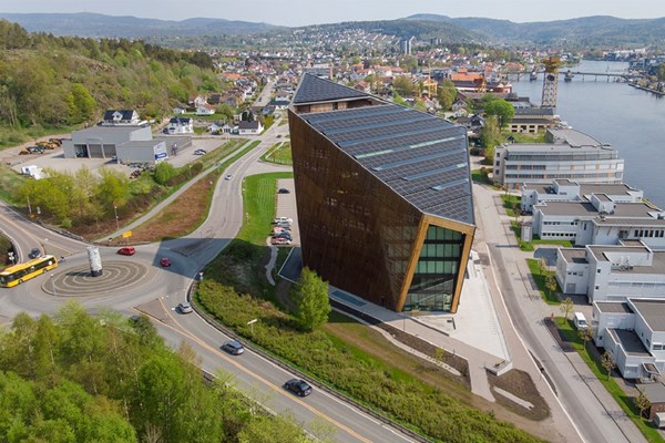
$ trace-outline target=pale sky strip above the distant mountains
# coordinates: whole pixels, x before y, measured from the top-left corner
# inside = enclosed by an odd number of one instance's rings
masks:
[[[0,0],[0,12],[96,12],[146,19],[216,18],[287,27],[341,21],[393,20],[415,13],[484,17],[513,22],[589,16],[665,17],[663,0]]]

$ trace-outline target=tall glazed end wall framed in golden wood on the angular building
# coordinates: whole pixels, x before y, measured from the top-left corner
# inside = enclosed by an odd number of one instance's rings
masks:
[[[405,311],[451,310],[463,246],[463,234],[440,226],[428,227]]]

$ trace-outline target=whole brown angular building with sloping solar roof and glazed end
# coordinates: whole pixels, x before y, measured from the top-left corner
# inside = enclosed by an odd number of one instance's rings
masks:
[[[456,312],[475,230],[466,128],[307,74],[289,126],[304,266],[396,311]]]

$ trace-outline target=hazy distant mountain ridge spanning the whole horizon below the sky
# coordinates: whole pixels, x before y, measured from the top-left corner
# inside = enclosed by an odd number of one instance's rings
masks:
[[[269,23],[195,18],[182,21],[142,19],[131,16],[115,17],[99,13],[3,13],[0,18],[19,23],[30,32],[79,37],[202,37],[242,35],[294,29]],[[450,18],[420,13],[398,20],[347,21],[303,28],[335,27],[381,30],[402,38],[426,40],[441,37],[444,41],[477,41],[510,44],[572,44],[572,45],[663,45],[665,18],[618,19],[594,16],[570,20],[515,23],[510,20],[487,18]]]

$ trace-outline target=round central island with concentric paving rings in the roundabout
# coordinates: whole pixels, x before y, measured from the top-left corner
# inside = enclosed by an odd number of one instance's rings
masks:
[[[135,261],[110,260],[104,262],[103,274],[92,277],[89,265],[58,269],[42,282],[42,290],[55,297],[108,296],[125,287],[144,284],[153,272]]]

